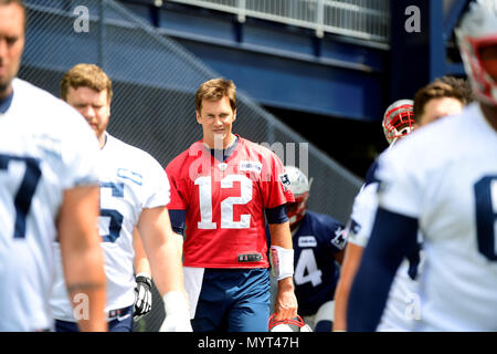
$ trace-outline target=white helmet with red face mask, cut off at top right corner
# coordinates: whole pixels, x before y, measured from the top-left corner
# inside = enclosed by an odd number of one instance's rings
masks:
[[[455,30],[461,56],[475,96],[488,104],[497,105],[497,83],[484,70],[480,49],[497,45],[497,1],[472,2]]]

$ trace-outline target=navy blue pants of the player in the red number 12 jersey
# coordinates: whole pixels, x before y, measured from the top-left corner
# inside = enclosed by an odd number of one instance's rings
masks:
[[[267,332],[268,269],[205,269],[193,332]]]

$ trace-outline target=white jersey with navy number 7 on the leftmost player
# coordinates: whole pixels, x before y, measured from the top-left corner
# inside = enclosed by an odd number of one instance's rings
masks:
[[[71,106],[14,79],[0,113],[0,331],[52,327],[52,242],[65,189],[97,185],[95,134]]]

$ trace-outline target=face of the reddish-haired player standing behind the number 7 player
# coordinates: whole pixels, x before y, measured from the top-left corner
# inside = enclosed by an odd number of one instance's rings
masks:
[[[86,86],[70,87],[66,102],[85,117],[102,147],[110,117],[110,102],[107,97],[107,91],[95,91]]]

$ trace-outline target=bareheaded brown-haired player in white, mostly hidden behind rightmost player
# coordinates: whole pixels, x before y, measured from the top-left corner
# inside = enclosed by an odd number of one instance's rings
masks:
[[[420,88],[414,97],[413,126],[423,126],[440,117],[459,113],[470,101],[472,94],[467,81],[452,76],[436,79]],[[390,145],[392,146],[393,144]],[[341,293],[338,295],[338,311],[341,322],[335,330],[346,327],[347,295],[374,221],[378,207],[378,180],[374,179],[377,166],[378,164],[374,163],[368,171],[366,184],[355,199],[347,227],[348,242],[351,246],[343,267],[346,275],[342,275],[343,281],[339,285]],[[415,321],[420,317],[417,279],[423,270],[424,252],[421,250],[422,235],[417,237],[420,248],[409,254],[399,267],[378,331],[412,331]]]

